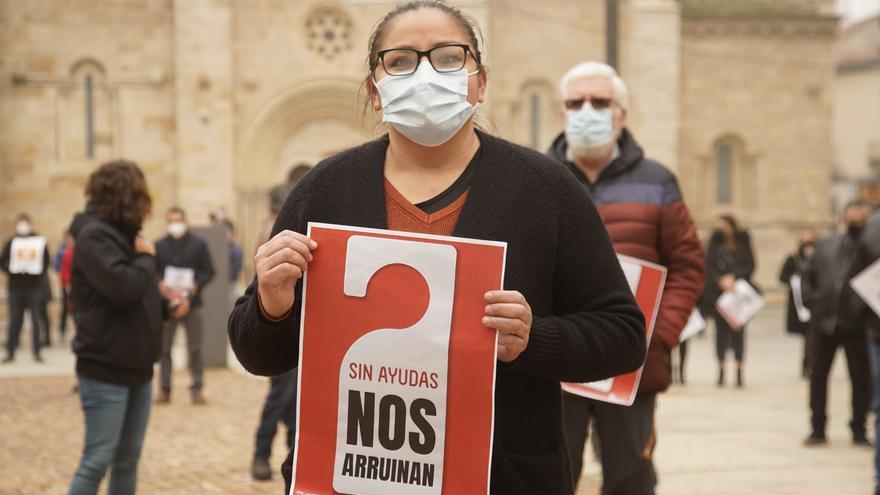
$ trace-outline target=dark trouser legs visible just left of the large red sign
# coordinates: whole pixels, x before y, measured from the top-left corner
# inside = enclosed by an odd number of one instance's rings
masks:
[[[263,404],[260,426],[257,428],[254,457],[272,455],[272,440],[278,431],[278,423],[287,427],[287,448],[293,447],[296,435],[296,375],[294,368],[269,380],[269,394]]]

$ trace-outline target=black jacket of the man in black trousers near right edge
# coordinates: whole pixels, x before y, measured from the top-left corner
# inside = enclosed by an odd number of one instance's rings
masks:
[[[825,335],[854,335],[865,331],[867,306],[849,285],[865,267],[857,239],[833,234],[816,243],[804,272],[804,302],[811,328]]]

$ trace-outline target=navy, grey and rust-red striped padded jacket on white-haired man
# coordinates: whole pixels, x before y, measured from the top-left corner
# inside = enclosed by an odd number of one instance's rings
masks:
[[[658,392],[671,382],[669,353],[678,345],[703,288],[703,250],[672,172],[645,158],[627,129],[617,144],[620,154],[595,183],[567,159],[565,134],[556,138],[548,154],[568,165],[590,193],[619,254],[668,269],[640,385],[642,391]]]

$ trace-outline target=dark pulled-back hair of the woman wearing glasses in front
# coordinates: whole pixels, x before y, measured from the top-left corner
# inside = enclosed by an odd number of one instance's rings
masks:
[[[396,19],[402,14],[406,14],[407,12],[414,12],[416,10],[421,9],[434,9],[444,14],[452,17],[455,22],[461,27],[462,31],[467,34],[467,37],[470,41],[471,45],[471,54],[474,57],[474,61],[477,62],[477,70],[480,72],[484,72],[486,70],[486,66],[483,65],[483,53],[480,51],[480,43],[479,41],[483,39],[483,35],[480,32],[480,26],[477,24],[476,19],[470,16],[466,16],[461,13],[461,10],[443,3],[440,0],[410,0],[407,3],[398,5],[394,8],[394,10],[385,14],[385,17],[376,24],[376,27],[373,28],[373,32],[370,34],[370,41],[368,45],[369,53],[367,55],[366,68],[368,72],[368,77],[364,79],[364,85],[367,91],[367,98],[364,101],[364,115],[366,115],[367,109],[370,106],[370,98],[375,91],[373,87],[373,71],[376,70],[376,66],[379,64],[379,46],[382,45],[382,41],[385,39],[385,35],[388,33],[388,25],[391,24],[391,21]]]

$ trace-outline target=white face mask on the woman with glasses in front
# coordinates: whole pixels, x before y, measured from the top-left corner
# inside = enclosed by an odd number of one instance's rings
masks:
[[[467,101],[467,69],[440,73],[428,62],[408,76],[385,76],[374,82],[382,100],[382,121],[410,141],[440,146],[449,141],[474,114]]]

